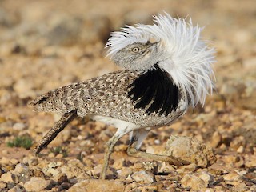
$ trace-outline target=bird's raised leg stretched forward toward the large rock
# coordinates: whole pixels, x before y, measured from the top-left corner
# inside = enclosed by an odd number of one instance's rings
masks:
[[[189,164],[188,162],[182,161],[181,159],[174,158],[172,156],[162,154],[150,154],[138,150],[137,146],[138,137],[136,135],[130,140],[130,144],[127,149],[127,154],[136,158],[150,158],[155,161],[169,162],[175,166],[183,166]]]

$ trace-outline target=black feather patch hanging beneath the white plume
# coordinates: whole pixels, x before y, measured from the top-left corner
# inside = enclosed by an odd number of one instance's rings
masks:
[[[167,116],[177,109],[178,87],[158,64],[136,78],[128,88],[130,88],[128,97],[135,102],[135,108],[145,109],[147,106],[147,114],[155,112]]]

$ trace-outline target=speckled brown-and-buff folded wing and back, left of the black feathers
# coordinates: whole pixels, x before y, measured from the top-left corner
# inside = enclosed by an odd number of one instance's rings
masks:
[[[126,101],[128,86],[138,75],[138,72],[119,70],[51,90],[35,98],[30,105],[34,106],[36,111],[66,114],[77,110],[78,115],[82,117],[86,114],[109,116],[115,110],[120,110],[118,108],[124,103],[128,105]]]

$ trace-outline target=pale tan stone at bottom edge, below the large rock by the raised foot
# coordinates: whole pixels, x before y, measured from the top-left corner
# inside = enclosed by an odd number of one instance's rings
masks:
[[[184,188],[191,187],[192,190],[202,190],[208,186],[205,181],[193,174],[185,174],[181,183]]]

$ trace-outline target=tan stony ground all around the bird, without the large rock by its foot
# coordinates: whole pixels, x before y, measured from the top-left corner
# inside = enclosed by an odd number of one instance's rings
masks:
[[[0,0],[0,191],[256,191],[254,4]],[[126,136],[114,149],[108,180],[98,180],[104,144],[115,129],[88,119],[72,122],[35,156],[34,145],[59,116],[35,113],[27,102],[118,70],[104,58],[110,31],[150,23],[163,10],[206,26],[203,37],[216,48],[216,91],[204,108],[153,130],[142,150],[163,154],[171,135],[193,137],[212,147],[217,161],[202,168],[130,158]],[[25,138],[23,147],[14,147],[18,138]]]

